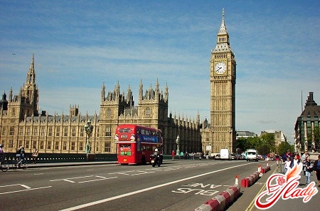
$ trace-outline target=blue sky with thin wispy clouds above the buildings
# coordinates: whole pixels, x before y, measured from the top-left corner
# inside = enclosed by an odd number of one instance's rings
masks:
[[[169,111],[210,120],[210,51],[222,9],[237,60],[236,129],[294,124],[320,105],[320,1],[0,1],[0,90],[14,94],[35,54],[39,109],[100,112],[102,83],[169,86]],[[15,53],[16,55],[13,55]]]

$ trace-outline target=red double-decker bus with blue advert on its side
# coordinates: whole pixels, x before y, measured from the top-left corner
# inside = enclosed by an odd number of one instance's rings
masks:
[[[118,163],[150,163],[150,155],[158,148],[162,152],[161,130],[141,125],[124,124],[115,130]]]

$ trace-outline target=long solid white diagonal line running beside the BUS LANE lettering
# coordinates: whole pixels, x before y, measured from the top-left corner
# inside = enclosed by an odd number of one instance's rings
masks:
[[[242,164],[242,165],[250,165],[250,163],[246,163],[246,164]],[[220,169],[220,170],[215,170],[215,171],[212,171],[212,172],[208,172],[208,173],[203,173],[201,175],[196,175],[196,176],[192,176],[192,177],[186,177],[186,178],[183,178],[181,180],[176,180],[176,181],[172,181],[172,182],[167,182],[167,183],[164,183],[164,184],[161,184],[161,185],[156,185],[156,186],[153,186],[153,187],[146,187],[142,190],[136,190],[134,192],[128,192],[128,193],[124,193],[122,195],[116,195],[114,197],[109,197],[109,198],[106,198],[104,200],[97,200],[95,202],[90,202],[90,203],[86,203],[86,204],[83,204],[83,205],[78,205],[78,206],[75,206],[75,207],[69,207],[69,208],[66,208],[64,210],[60,210],[60,211],[70,211],[70,210],[78,210],[78,209],[82,209],[82,208],[85,208],[85,207],[90,207],[90,206],[93,206],[93,205],[98,205],[98,204],[101,204],[101,203],[104,203],[104,202],[109,202],[109,201],[112,201],[112,200],[117,200],[119,198],[122,198],[122,197],[127,197],[129,195],[135,195],[137,193],[140,193],[140,192],[146,192],[146,191],[149,191],[149,190],[154,190],[156,188],[159,188],[159,187],[164,187],[164,186],[167,186],[167,185],[172,185],[172,184],[175,184],[175,183],[178,183],[178,182],[183,182],[185,180],[191,180],[191,179],[194,179],[196,177],[202,177],[204,175],[210,175],[212,173],[218,173],[220,171],[223,171],[223,170],[228,170],[228,169],[231,169],[231,168],[238,168],[239,166],[242,166],[242,165],[236,165],[236,166],[233,166],[233,167],[229,167],[229,168],[223,168],[223,169]]]

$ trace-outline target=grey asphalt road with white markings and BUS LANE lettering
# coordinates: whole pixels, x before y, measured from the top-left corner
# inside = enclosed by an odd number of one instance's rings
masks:
[[[0,173],[1,210],[194,210],[234,185],[236,175],[240,182],[258,165],[267,162],[165,160],[160,168],[108,164],[9,170]],[[273,170],[252,187],[242,188],[228,210],[257,210],[250,203]],[[319,198],[316,195],[308,207],[314,202],[318,207]],[[302,199],[297,204],[304,208]]]

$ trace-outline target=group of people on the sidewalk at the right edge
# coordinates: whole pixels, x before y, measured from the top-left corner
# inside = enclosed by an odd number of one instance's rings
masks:
[[[318,187],[320,187],[320,155],[318,155],[318,160],[312,163],[308,152],[304,152],[300,158],[298,153],[292,154],[288,151],[288,153],[282,157],[282,160],[284,161],[285,173],[287,173],[289,168],[293,168],[294,165],[302,163],[304,175],[306,176],[306,185],[310,183],[310,176],[314,171],[314,173],[316,173],[316,179],[318,180]]]

